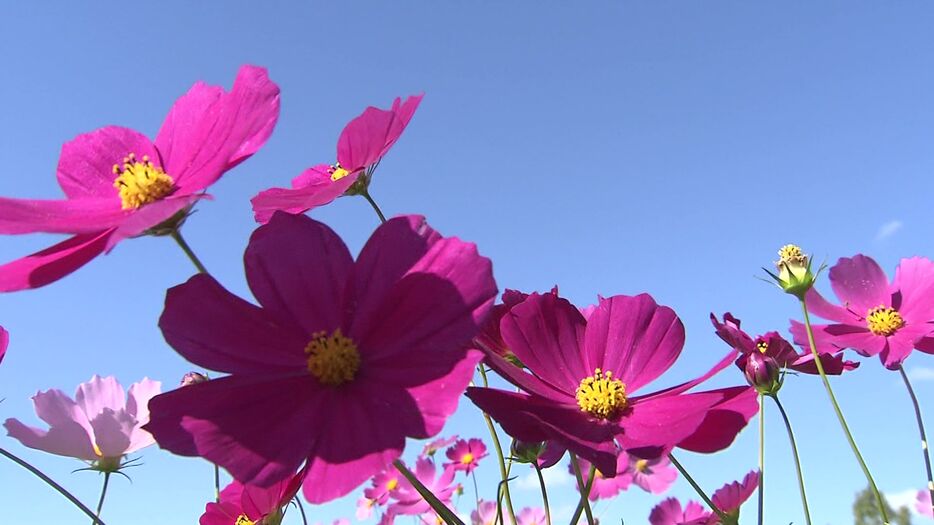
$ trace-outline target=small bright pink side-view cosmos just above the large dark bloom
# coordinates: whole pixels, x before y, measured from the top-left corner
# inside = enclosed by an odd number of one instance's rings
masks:
[[[265,224],[276,210],[298,214],[324,206],[360,181],[363,190],[389,148],[409,125],[423,95],[397,98],[388,110],[366,108],[337,139],[337,163],[319,164],[292,179],[291,188],[271,188],[253,197],[256,221]]]

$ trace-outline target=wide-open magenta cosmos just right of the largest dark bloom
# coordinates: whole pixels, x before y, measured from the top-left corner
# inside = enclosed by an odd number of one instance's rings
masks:
[[[651,459],[688,439],[691,450],[719,450],[745,425],[705,425],[725,391],[684,393],[728,366],[735,351],[694,381],[633,395],[671,367],[684,344],[677,315],[648,295],[601,298],[585,319],[554,293],[532,294],[503,315],[500,332],[528,372],[489,350],[486,362],[524,392],[472,387],[467,396],[516,439],[556,441],[607,477],[617,471],[614,439]]]

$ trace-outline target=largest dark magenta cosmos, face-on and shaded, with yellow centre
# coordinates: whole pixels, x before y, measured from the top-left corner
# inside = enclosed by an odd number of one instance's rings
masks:
[[[388,467],[406,437],[441,430],[481,358],[466,344],[496,294],[473,244],[397,217],[354,262],[324,224],[277,213],[244,259],[261,306],[207,275],[166,295],[166,341],[230,375],[152,400],[146,428],[161,447],[260,486],[307,460],[304,494],[321,503]]]

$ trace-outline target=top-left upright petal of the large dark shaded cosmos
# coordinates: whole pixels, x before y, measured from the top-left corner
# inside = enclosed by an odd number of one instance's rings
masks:
[[[253,232],[243,259],[250,290],[278,324],[294,327],[307,341],[341,326],[354,263],[333,230],[280,213]]]

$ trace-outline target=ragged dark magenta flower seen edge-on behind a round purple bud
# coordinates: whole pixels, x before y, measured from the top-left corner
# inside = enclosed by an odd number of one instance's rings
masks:
[[[720,339],[739,351],[740,356],[736,360],[736,366],[740,370],[746,370],[746,362],[750,355],[759,353],[774,359],[782,368],[790,368],[805,374],[817,374],[814,354],[810,351],[801,354],[795,352],[791,344],[778,335],[778,332],[768,332],[753,339],[740,328],[740,320],[729,312],[723,314],[722,323],[714,314],[710,314],[710,322],[713,323]],[[836,356],[820,354],[820,359],[821,364],[824,365],[824,372],[830,375],[839,375],[859,366],[859,363],[844,361],[842,354]]]

